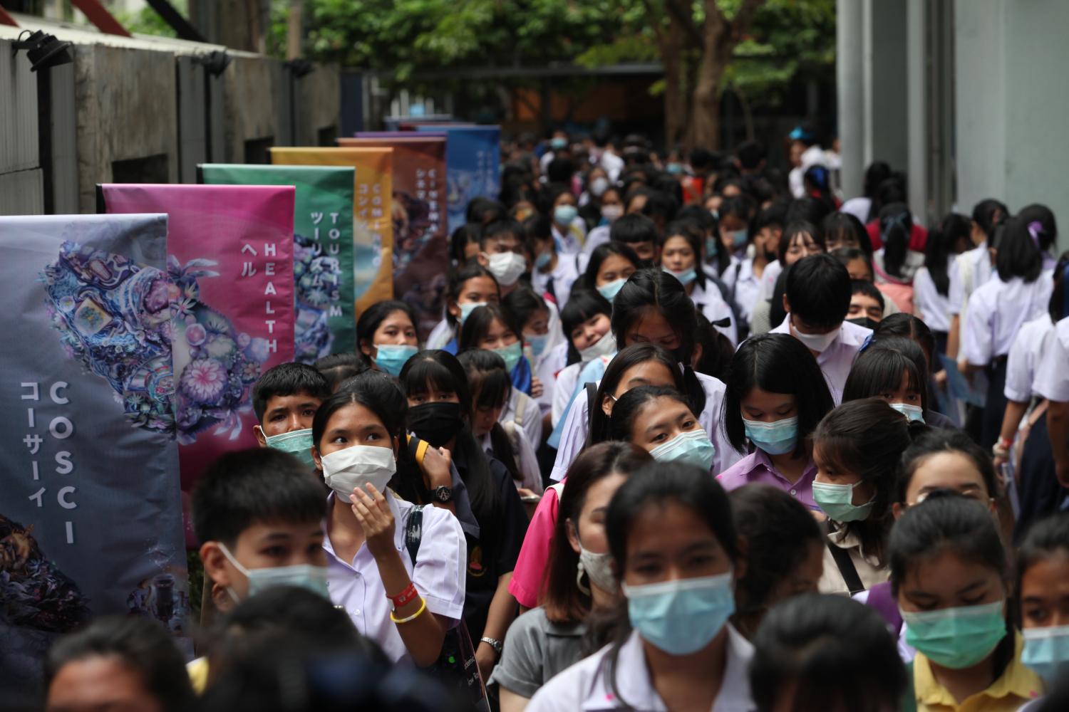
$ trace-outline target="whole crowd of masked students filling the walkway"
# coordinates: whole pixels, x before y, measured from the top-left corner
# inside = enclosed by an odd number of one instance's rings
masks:
[[[255,384],[262,447],[192,495],[188,675],[102,619],[48,708],[1069,709],[1054,216],[926,230],[886,164],[843,204],[791,138],[787,177],[512,146],[425,339],[381,302]]]

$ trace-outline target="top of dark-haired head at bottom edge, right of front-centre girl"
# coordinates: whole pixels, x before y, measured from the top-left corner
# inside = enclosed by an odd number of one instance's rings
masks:
[[[777,605],[754,648],[757,712],[897,710],[909,685],[880,615],[840,596],[804,594]]]

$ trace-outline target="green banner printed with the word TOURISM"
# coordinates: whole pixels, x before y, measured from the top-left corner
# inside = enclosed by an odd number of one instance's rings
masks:
[[[200,183],[294,186],[294,359],[314,363],[356,349],[353,313],[354,169],[319,165],[198,167]]]

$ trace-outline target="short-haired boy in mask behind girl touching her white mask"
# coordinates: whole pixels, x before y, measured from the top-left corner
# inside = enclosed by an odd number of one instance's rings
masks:
[[[330,383],[303,363],[280,363],[252,386],[252,410],[259,424],[252,428],[261,447],[295,455],[312,469],[312,418],[320,404],[330,397]]]

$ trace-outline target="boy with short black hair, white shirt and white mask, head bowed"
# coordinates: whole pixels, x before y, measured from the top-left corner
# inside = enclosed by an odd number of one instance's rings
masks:
[[[850,292],[850,274],[842,263],[827,254],[805,257],[787,274],[787,317],[772,330],[774,334],[794,336],[812,351],[837,404],[842,400],[842,386],[854,357],[872,333],[845,321]]]

